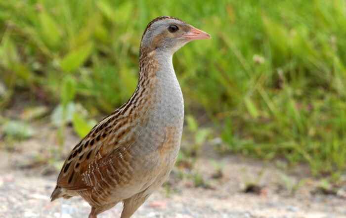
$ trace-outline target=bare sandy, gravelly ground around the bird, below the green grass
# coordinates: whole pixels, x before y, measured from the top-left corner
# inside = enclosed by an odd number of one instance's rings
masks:
[[[78,138],[70,134],[66,140],[64,153]],[[0,141],[0,146],[5,146],[3,143]],[[58,172],[39,164],[37,152],[49,153],[54,143],[53,133],[43,133],[14,142],[14,150],[0,151],[0,218],[87,218],[90,207],[79,197],[49,201]],[[318,180],[309,178],[304,167],[288,172],[277,164],[219,155],[209,144],[204,149],[201,154],[208,155],[200,155],[192,169],[176,167],[168,183],[132,217],[346,218],[345,198],[312,194]],[[215,165],[222,166],[218,176]],[[195,187],[196,174],[203,180],[200,187]],[[300,181],[304,181],[302,185]],[[259,190],[244,193],[249,183],[259,185]],[[121,210],[119,204],[99,218],[120,218]]]

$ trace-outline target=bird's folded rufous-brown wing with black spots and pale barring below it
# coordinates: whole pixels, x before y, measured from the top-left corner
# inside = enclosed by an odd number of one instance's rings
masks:
[[[68,190],[114,183],[130,171],[133,135],[127,117],[114,113],[100,121],[70,152],[57,179]],[[118,181],[119,182],[119,181]]]

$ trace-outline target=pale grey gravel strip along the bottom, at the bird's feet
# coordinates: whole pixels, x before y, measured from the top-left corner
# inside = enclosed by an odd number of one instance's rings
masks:
[[[215,189],[186,184],[181,182],[169,197],[164,188],[156,191],[133,218],[346,218],[346,201],[335,196],[285,197],[270,191],[256,195],[233,190],[227,183]],[[54,185],[53,177],[2,172],[0,217],[87,218],[90,207],[79,197],[50,202]],[[121,210],[119,204],[99,218],[119,218]]]

